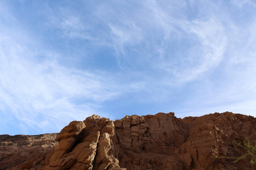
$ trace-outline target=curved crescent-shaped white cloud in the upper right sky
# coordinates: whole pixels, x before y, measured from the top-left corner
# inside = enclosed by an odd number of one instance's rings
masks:
[[[193,47],[188,53],[188,67],[176,74],[185,82],[195,79],[198,75],[217,66],[224,58],[228,37],[218,20],[210,18],[207,21],[194,20],[187,25],[189,33],[195,34],[200,41],[198,47]],[[181,67],[183,70],[184,67]],[[180,75],[181,77],[180,77]]]

